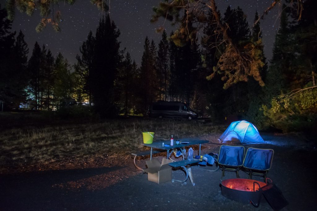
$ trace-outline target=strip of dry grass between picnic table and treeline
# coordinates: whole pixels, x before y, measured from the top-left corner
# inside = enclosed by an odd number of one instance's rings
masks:
[[[130,153],[140,148],[142,132],[155,139],[202,136],[222,126],[173,119],[126,119],[102,123],[55,123],[41,127],[15,127],[0,131],[0,166],[48,163],[61,158]]]

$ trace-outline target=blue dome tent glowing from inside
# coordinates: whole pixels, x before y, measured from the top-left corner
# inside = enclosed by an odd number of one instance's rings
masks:
[[[242,143],[254,144],[264,143],[256,127],[247,121],[231,122],[229,127],[220,136],[219,140],[223,143]]]

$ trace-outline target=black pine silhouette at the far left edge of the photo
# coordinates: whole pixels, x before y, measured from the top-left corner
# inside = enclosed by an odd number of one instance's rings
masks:
[[[1,109],[17,108],[25,100],[26,71],[28,48],[24,35],[20,31],[15,39],[15,32],[10,32],[11,21],[6,19],[5,9],[0,5],[0,101]],[[3,103],[3,104],[2,104]]]

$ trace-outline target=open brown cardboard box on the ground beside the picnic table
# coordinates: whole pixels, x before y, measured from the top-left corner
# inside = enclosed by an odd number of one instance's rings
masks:
[[[172,167],[168,164],[173,162],[163,158],[162,164],[160,164],[158,159],[147,160],[146,165],[147,169],[144,171],[147,172],[147,179],[154,183],[165,183],[172,180]]]

